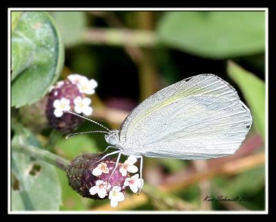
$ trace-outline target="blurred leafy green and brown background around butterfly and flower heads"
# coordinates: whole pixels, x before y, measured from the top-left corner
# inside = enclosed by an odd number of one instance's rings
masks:
[[[21,124],[12,128],[14,143],[21,137],[68,160],[106,148],[99,134],[52,138],[45,96],[70,73],[98,82],[90,118],[108,128],[119,128],[150,94],[203,73],[233,85],[254,123],[230,157],[145,158],[144,192],[128,194],[118,208],[108,200],[83,199],[66,174],[48,163],[37,163],[38,176],[26,175],[34,160],[12,152],[12,210],[265,209],[265,12],[12,12],[11,28],[12,119]],[[95,129],[85,122],[77,131]],[[204,201],[207,195],[249,201]]]

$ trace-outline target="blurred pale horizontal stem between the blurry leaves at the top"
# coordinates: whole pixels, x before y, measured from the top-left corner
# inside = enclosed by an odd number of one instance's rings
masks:
[[[84,43],[109,46],[155,47],[157,37],[150,30],[128,30],[125,28],[93,28],[83,34]]]

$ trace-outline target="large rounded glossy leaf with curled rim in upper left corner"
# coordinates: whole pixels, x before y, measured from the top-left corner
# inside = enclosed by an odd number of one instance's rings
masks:
[[[22,12],[12,32],[12,106],[38,101],[58,79],[63,45],[47,12]]]

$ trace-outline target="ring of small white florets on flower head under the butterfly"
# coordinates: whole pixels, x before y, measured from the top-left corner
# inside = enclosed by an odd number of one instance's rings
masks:
[[[137,166],[133,165],[136,162],[136,157],[130,155],[123,164],[119,164],[119,175],[118,172],[116,172],[117,170],[115,170],[115,172],[117,173],[117,176],[121,176],[121,178],[124,179],[124,183],[119,185],[112,183],[113,175],[110,176],[110,169],[108,168],[108,165],[102,162],[99,163],[97,167],[92,170],[92,174],[97,176],[99,180],[97,180],[95,185],[90,188],[90,194],[97,194],[101,199],[108,196],[110,199],[110,205],[112,207],[116,207],[119,201],[124,201],[124,190],[126,187],[129,187],[132,192],[137,193],[143,186],[143,179],[139,179],[139,174],[135,174],[131,177],[128,175],[128,172],[135,173],[138,171]]]

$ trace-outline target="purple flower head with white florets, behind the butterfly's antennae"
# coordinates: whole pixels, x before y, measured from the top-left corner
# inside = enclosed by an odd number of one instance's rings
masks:
[[[75,130],[81,120],[77,117],[68,117],[65,111],[77,112],[90,116],[92,114],[91,99],[86,97],[94,94],[97,81],[88,79],[80,74],[70,74],[64,81],[58,81],[50,88],[49,99],[46,105],[46,117],[53,128],[67,133]]]

